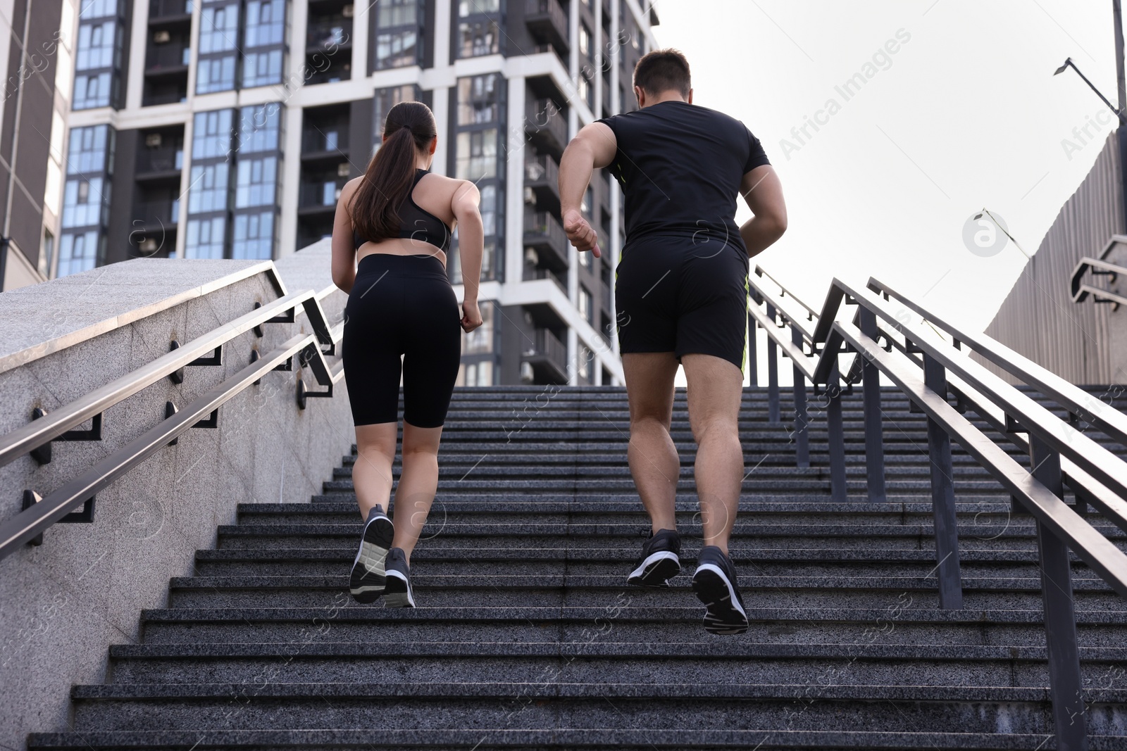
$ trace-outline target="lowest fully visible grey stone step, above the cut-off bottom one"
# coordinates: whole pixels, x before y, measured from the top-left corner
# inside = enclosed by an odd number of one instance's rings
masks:
[[[1089,692],[1088,721],[1097,734],[1127,724],[1125,690]],[[196,682],[78,686],[76,731],[139,731],[160,717],[168,730],[316,730],[372,727],[542,726],[656,730],[790,728],[827,725],[845,731],[1050,732],[1047,687],[801,686],[769,682],[283,683]],[[897,712],[872,712],[890,703]],[[789,709],[789,712],[788,712]]]

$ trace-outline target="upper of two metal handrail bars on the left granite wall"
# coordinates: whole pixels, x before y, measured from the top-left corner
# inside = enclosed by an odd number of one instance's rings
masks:
[[[218,347],[222,347],[234,337],[269,322],[272,319],[283,316],[286,311],[290,312],[290,316],[285,319],[285,322],[291,322],[298,306],[301,306],[305,314],[309,315],[311,325],[320,343],[332,345],[336,340],[332,339],[325,318],[325,311],[321,309],[312,290],[293,293],[292,295],[279,297],[202,337],[193,339],[132,373],[110,381],[106,385],[91,391],[69,404],[52,410],[23,428],[12,430],[0,438],[0,466],[5,466],[39,446],[57,439],[71,428],[86,422],[97,414],[101,414],[114,404],[122,402],[142,388],[189,365],[193,360],[215,350]]]

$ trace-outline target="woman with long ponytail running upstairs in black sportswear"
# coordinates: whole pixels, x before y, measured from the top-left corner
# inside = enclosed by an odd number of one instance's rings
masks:
[[[417,101],[388,113],[383,144],[363,177],[340,191],[332,225],[332,281],[348,293],[344,368],[364,517],[349,589],[360,602],[415,607],[411,551],[438,488],[438,440],[458,378],[462,331],[481,325],[480,196],[472,182],[427,170],[438,144],[434,115]],[[458,226],[465,298],[446,276]],[[461,324],[459,327],[459,324]],[[396,458],[402,357],[402,473],[394,524],[387,516]]]

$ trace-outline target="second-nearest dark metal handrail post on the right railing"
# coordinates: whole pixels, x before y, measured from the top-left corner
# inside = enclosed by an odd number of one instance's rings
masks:
[[[947,370],[926,352],[923,356],[923,382],[940,396],[947,396]],[[939,580],[939,607],[962,608],[962,582],[959,573],[959,528],[955,517],[951,437],[943,427],[928,418],[928,454],[931,464],[931,510],[935,529],[935,565]]]

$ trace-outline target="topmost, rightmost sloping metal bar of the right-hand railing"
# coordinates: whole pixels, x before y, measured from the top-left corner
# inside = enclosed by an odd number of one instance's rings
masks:
[[[1124,269],[1127,272],[1127,269]],[[878,294],[895,297],[905,307],[923,316],[926,321],[949,333],[956,341],[969,347],[975,352],[1006,370],[1022,383],[1029,384],[1045,396],[1048,396],[1073,415],[1082,417],[1119,442],[1127,445],[1127,414],[1094,399],[1051,370],[1048,370],[1028,357],[1015,352],[1002,342],[985,333],[974,333],[967,329],[943,320],[934,312],[925,309],[889,285],[869,277],[869,289]]]

